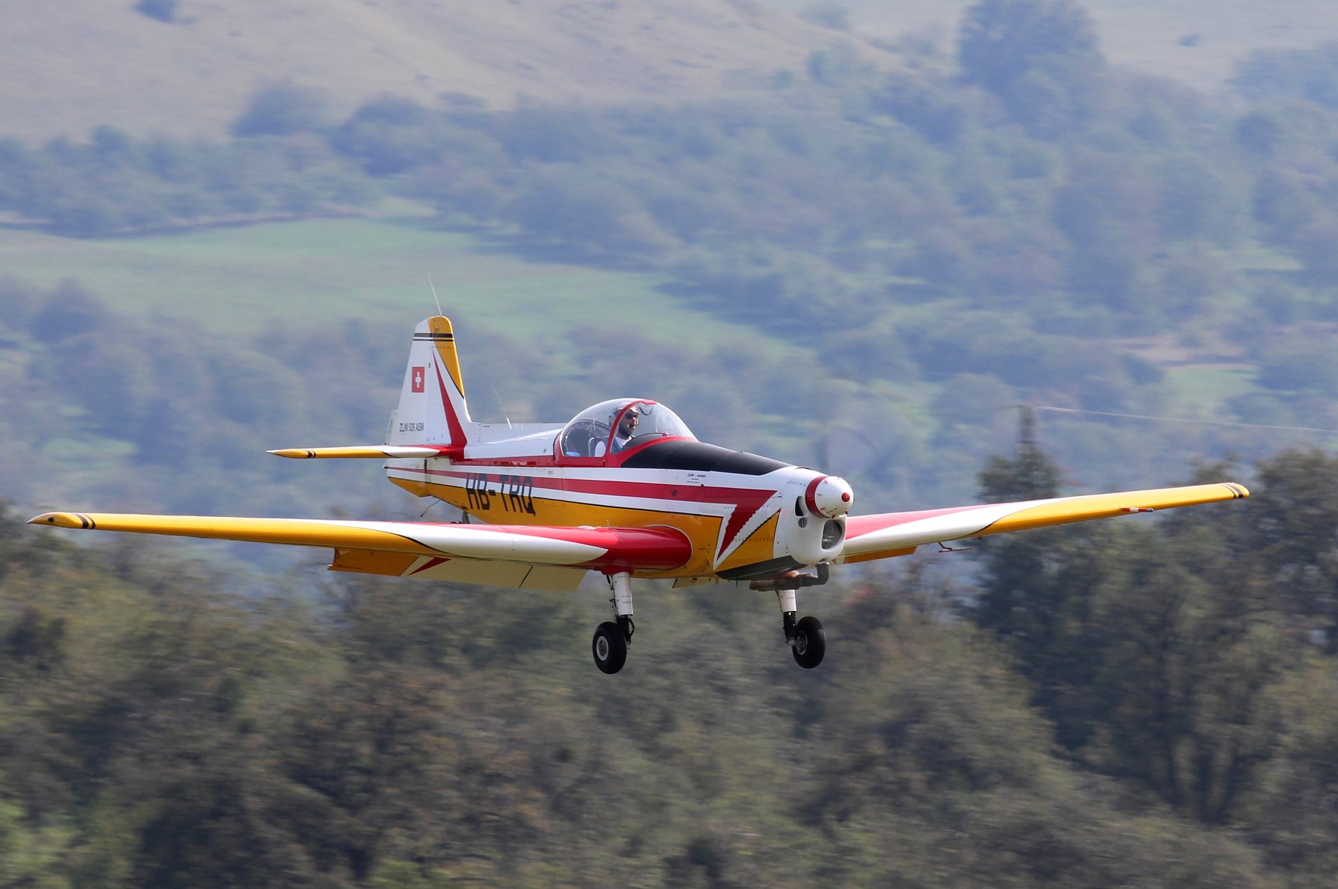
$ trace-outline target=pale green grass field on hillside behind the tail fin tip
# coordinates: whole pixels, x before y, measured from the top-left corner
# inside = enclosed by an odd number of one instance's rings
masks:
[[[100,241],[7,230],[0,270],[48,286],[75,279],[118,309],[195,318],[213,330],[313,318],[413,324],[436,311],[431,278],[448,315],[519,341],[587,322],[661,342],[747,337],[783,348],[662,291],[658,275],[529,261],[412,215]]]

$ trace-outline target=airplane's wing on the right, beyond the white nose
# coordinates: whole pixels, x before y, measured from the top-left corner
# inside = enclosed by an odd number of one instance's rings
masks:
[[[977,507],[925,509],[919,512],[884,512],[876,516],[851,516],[846,520],[846,545],[840,561],[867,561],[909,555],[926,543],[943,543],[983,537],[1009,531],[1109,519],[1136,512],[1153,512],[1175,507],[1192,507],[1218,500],[1248,497],[1244,485],[1220,484],[1157,488],[1155,491],[1121,491],[1090,493],[1050,500],[993,503]]]

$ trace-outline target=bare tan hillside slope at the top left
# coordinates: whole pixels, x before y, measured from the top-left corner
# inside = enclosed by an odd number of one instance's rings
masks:
[[[828,37],[729,0],[8,0],[0,119],[31,139],[103,123],[218,138],[273,84],[318,90],[332,116],[381,94],[488,108],[672,102],[755,90]]]

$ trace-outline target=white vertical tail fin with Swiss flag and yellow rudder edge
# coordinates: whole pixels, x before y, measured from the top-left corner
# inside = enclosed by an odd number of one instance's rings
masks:
[[[438,444],[463,449],[475,428],[464,401],[464,380],[451,321],[436,315],[413,329],[400,405],[385,444]]]

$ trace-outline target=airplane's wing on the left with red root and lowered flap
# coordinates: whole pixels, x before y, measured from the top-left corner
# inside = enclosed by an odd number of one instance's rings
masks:
[[[673,528],[561,528],[417,521],[47,512],[28,524],[334,549],[333,571],[575,590],[590,569],[672,571],[692,556]]]

